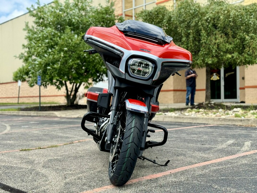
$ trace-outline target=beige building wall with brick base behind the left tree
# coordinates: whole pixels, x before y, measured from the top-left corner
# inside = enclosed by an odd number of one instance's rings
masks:
[[[64,2],[64,0],[60,0]],[[92,5],[105,4],[105,1],[94,0]],[[118,15],[118,13],[117,13]],[[13,72],[23,65],[15,56],[23,52],[22,44],[26,44],[23,31],[25,22],[32,24],[33,18],[29,13],[11,19],[0,24],[0,103],[39,102],[39,86],[29,87],[27,82],[21,83],[20,93],[17,82],[13,81]],[[57,90],[55,86],[41,87],[41,102],[57,102],[66,104],[65,87]],[[85,89],[81,87],[79,95],[82,96]],[[85,103],[85,98],[80,101]]]

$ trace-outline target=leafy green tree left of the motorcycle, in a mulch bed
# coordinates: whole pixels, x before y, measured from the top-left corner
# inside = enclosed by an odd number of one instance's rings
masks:
[[[44,87],[54,85],[66,88],[67,105],[74,104],[76,95],[83,85],[89,87],[92,80],[99,82],[106,68],[98,54],[83,53],[91,49],[83,41],[85,31],[92,26],[111,27],[117,19],[113,3],[93,7],[90,0],[66,0],[28,8],[34,18],[33,25],[25,23],[27,35],[24,52],[19,55],[24,63],[13,73],[15,81],[27,81],[33,87],[37,75],[41,75]]]

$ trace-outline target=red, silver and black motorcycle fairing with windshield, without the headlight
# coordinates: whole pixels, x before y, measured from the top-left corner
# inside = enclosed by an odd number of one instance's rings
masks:
[[[121,28],[122,25],[124,29]],[[144,27],[147,31],[144,31]],[[174,75],[179,70],[188,69],[192,64],[192,55],[189,51],[176,46],[172,38],[167,36],[161,28],[155,26],[157,29],[150,29],[151,27],[151,24],[134,20],[117,23],[110,28],[91,27],[87,30],[84,40],[103,57],[107,68],[116,77],[134,82],[139,80],[145,85],[159,86],[170,75]],[[136,35],[133,36],[131,33]],[[108,56],[111,56],[111,61]],[[147,80],[131,77],[126,72],[130,58],[150,61],[154,64],[154,73]],[[167,69],[168,73],[166,73]]]

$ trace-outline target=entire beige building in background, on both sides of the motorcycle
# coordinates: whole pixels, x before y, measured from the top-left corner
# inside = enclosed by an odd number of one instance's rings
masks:
[[[123,15],[125,19],[135,19],[136,13],[143,9],[152,9],[159,5],[174,9],[176,1],[178,0],[119,0],[115,1],[115,14]],[[257,0],[229,1],[247,5]],[[93,2],[98,5],[103,1],[94,0]],[[205,3],[206,0],[196,0],[196,2]],[[13,82],[12,75],[17,68],[22,66],[22,61],[15,59],[14,56],[23,51],[22,44],[26,43],[24,39],[25,31],[23,31],[25,21],[32,23],[32,18],[29,17],[28,13],[0,24],[0,103],[17,103],[18,100],[19,87],[17,82]],[[205,68],[195,70],[198,74],[195,102],[204,102]],[[257,65],[213,70],[210,74],[212,100],[216,102],[245,101],[246,103],[257,103],[256,71]],[[159,96],[160,103],[185,103],[186,82],[184,71],[179,73],[182,75],[172,76],[164,83]],[[83,95],[83,93],[85,93],[85,90],[81,88],[79,94]],[[31,88],[26,82],[21,83],[19,102],[38,101],[39,87]],[[49,86],[47,89],[41,88],[41,102],[66,103],[65,88],[59,91],[53,86]],[[80,103],[85,103],[85,98],[80,100]]]

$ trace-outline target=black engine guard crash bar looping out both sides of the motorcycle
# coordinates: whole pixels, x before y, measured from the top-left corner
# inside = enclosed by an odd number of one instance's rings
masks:
[[[86,113],[83,116],[83,119],[81,121],[81,128],[85,132],[87,132],[89,135],[92,135],[98,141],[101,141],[102,138],[95,133],[95,130],[86,128],[85,127],[85,122],[89,121],[89,122],[96,123],[99,120],[99,118],[102,118],[102,117],[110,118],[109,115],[95,113],[95,112],[88,112],[88,113]],[[163,126],[155,125],[155,124],[151,124],[151,123],[148,123],[148,126],[152,127],[152,128],[156,128],[156,129],[162,130],[164,132],[164,137],[163,137],[162,142],[147,141],[145,143],[144,149],[155,147],[155,146],[162,146],[162,145],[164,145],[166,143],[166,141],[167,141],[167,138],[168,138],[168,131],[167,131],[167,129],[165,127],[163,127]]]

